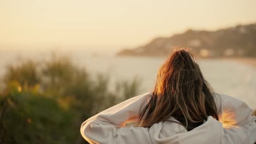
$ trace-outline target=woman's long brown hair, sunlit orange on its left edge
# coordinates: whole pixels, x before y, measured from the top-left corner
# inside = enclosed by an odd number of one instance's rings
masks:
[[[213,93],[194,56],[184,49],[174,51],[160,67],[152,98],[138,123],[150,127],[172,116],[187,130],[192,130],[207,116],[218,120]]]

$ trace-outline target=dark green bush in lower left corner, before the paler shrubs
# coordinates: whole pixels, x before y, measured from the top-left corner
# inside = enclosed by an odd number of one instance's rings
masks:
[[[31,88],[10,83],[1,97],[1,143],[72,143],[74,114]]]

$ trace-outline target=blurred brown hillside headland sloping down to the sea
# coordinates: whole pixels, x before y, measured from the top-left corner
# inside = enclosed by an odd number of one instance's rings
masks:
[[[188,47],[200,57],[256,57],[256,23],[238,25],[218,31],[188,30],[167,38],[124,49],[118,56],[164,56],[174,47]]]

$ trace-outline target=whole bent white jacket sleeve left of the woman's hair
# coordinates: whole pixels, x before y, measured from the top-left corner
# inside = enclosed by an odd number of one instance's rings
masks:
[[[151,92],[139,95],[89,118],[80,128],[82,136],[89,143],[152,143],[149,128],[124,126],[139,116],[150,96]]]

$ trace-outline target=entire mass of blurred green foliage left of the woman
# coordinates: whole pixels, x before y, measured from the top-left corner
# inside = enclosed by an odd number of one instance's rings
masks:
[[[86,143],[80,124],[137,94],[138,81],[117,82],[108,75],[92,80],[67,57],[9,65],[0,93],[0,143]]]

